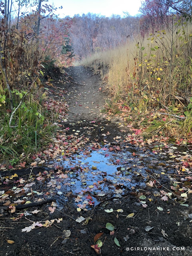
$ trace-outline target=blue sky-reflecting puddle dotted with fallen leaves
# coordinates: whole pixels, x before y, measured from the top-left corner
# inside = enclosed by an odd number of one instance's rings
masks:
[[[154,173],[162,184],[170,181],[168,175],[175,173],[176,162],[169,152],[173,154],[177,148],[166,150],[155,152],[127,145],[121,149],[108,145],[97,150],[88,148],[51,162],[50,166],[59,171],[47,186],[54,184],[55,192],[65,200],[66,194],[71,193],[80,208],[89,209],[106,196],[118,198],[126,192],[144,189],[147,177]]]

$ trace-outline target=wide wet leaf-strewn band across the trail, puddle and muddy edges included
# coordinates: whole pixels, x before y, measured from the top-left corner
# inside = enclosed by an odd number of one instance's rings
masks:
[[[75,154],[58,155],[46,162],[46,167],[25,169],[26,173],[13,170],[13,175],[5,175],[10,180],[3,182],[2,189],[11,193],[12,199],[48,196],[56,198],[59,206],[72,199],[77,208],[88,210],[106,198],[114,196],[118,200],[130,192],[150,189],[150,181],[156,180],[156,190],[167,182],[173,184],[175,175],[181,172],[185,181],[191,173],[190,159],[191,148],[180,146],[154,144],[139,148],[128,143],[90,143]]]

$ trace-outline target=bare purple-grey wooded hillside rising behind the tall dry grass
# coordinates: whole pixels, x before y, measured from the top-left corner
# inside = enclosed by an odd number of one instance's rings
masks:
[[[138,33],[147,34],[168,25],[172,14],[190,17],[191,0],[144,0],[140,15],[132,17],[125,12],[124,18],[110,18],[97,14],[75,15],[71,19],[70,40],[74,54],[79,60],[126,44]],[[66,17],[69,18],[69,17]]]

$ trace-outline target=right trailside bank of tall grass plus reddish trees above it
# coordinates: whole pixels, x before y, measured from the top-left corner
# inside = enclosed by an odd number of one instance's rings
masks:
[[[147,137],[191,141],[192,8],[181,2],[162,1],[160,9],[159,1],[143,1],[140,17],[121,18],[130,29],[124,42],[100,51],[94,48],[82,64],[106,82],[112,96],[106,103],[108,114],[120,116]]]

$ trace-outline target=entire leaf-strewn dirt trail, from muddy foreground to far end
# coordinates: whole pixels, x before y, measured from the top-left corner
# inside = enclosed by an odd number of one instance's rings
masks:
[[[30,168],[1,173],[1,254],[192,255],[192,147],[111,121],[98,76],[67,73],[49,88],[69,105],[52,144]]]

